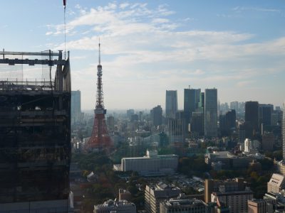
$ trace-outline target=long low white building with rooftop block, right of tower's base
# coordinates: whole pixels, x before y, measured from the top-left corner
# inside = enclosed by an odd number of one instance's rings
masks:
[[[165,175],[177,170],[177,155],[157,155],[157,151],[147,151],[147,155],[137,158],[122,158],[121,165],[116,165],[122,171],[136,171],[141,175]]]

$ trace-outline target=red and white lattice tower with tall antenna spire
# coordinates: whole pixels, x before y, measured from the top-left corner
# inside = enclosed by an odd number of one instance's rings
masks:
[[[96,107],[94,110],[95,118],[93,124],[93,131],[86,144],[87,151],[105,151],[110,153],[113,147],[112,140],[108,134],[105,114],[106,109],[103,102],[103,87],[102,87],[102,65],[100,59],[100,41],[99,41],[99,64],[97,66],[97,95]]]

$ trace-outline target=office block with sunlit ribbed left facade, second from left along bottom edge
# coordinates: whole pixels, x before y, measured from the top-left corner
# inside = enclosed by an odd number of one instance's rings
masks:
[[[180,195],[180,188],[158,182],[156,185],[145,186],[145,210],[147,213],[159,213],[160,202],[176,198]]]

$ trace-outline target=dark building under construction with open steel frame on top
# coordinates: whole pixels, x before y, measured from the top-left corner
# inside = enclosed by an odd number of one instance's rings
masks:
[[[0,56],[0,212],[72,212],[69,57],[51,50]]]

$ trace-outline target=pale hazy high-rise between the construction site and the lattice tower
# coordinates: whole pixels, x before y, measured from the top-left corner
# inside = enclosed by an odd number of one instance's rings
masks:
[[[71,124],[81,120],[81,92],[71,91]]]

